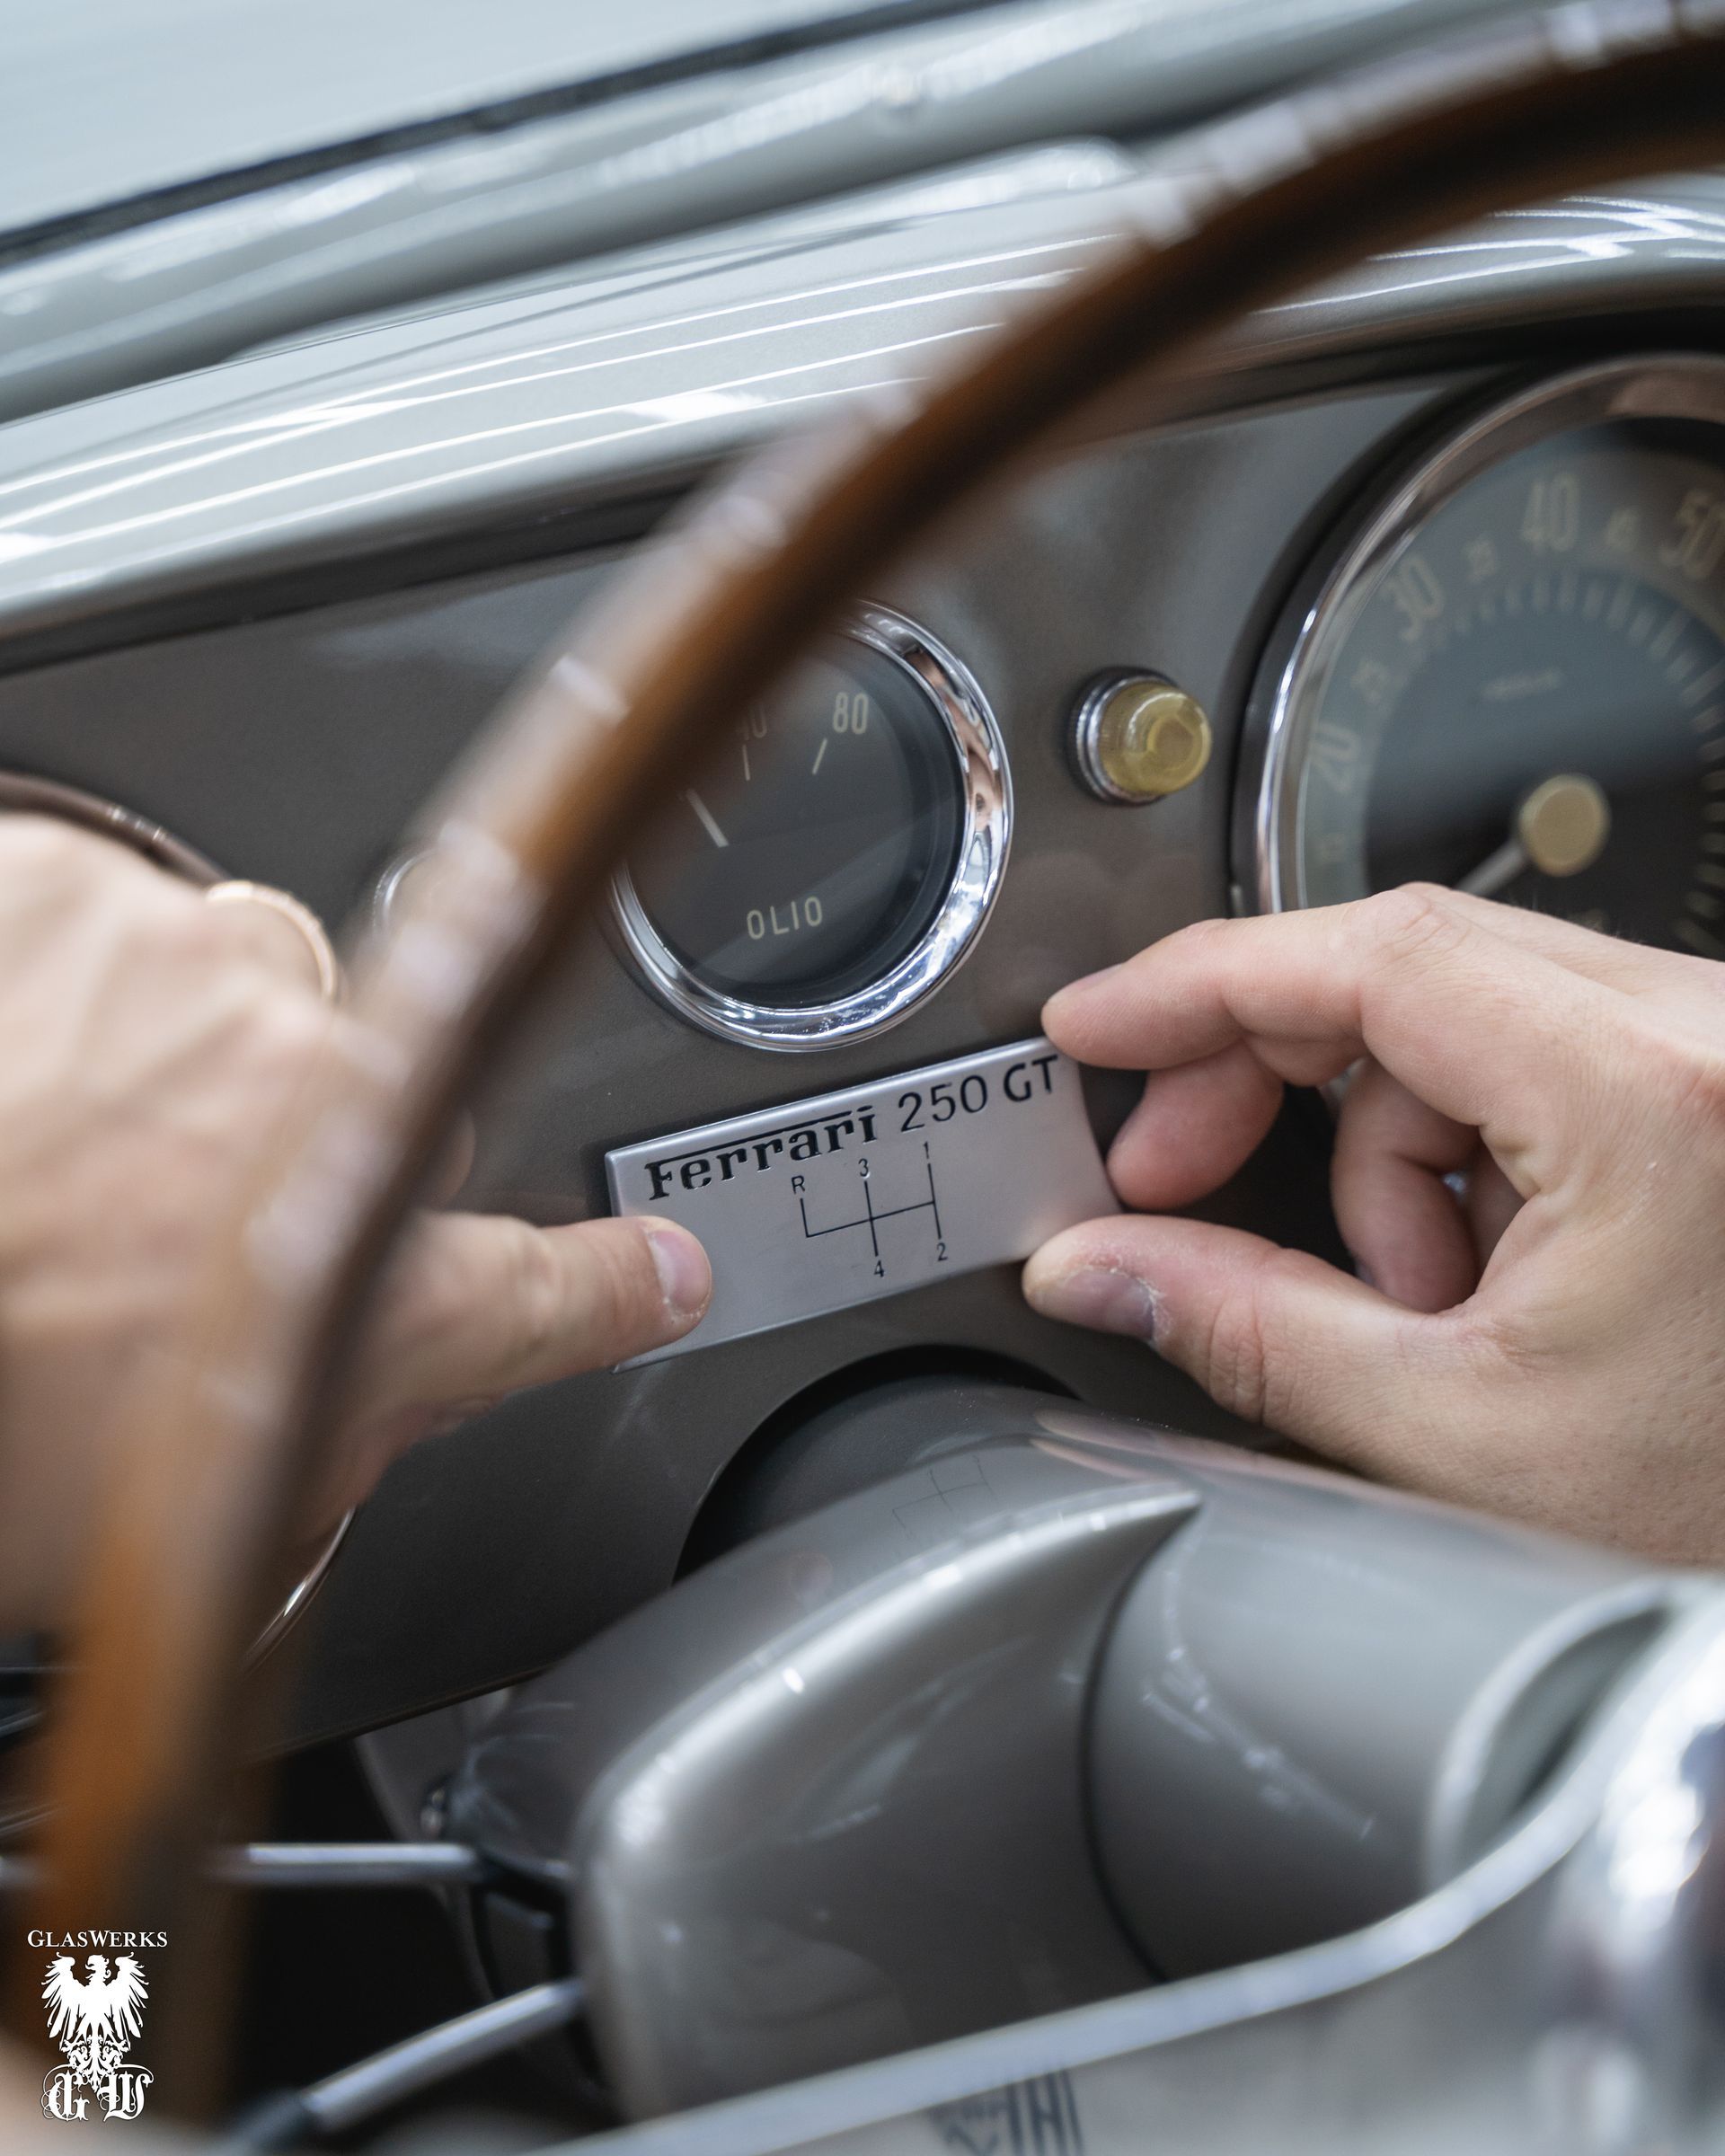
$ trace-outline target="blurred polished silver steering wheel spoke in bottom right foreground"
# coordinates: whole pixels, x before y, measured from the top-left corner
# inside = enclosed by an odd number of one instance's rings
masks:
[[[1721,1701],[1714,1591],[1509,1839],[1369,1930],[580,2150],[1712,2156]]]

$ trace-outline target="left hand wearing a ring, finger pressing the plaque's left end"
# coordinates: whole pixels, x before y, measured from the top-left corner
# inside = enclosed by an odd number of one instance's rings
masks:
[[[0,1621],[45,1623],[147,1360],[207,1238],[341,1026],[298,936],[106,839],[0,817]],[[668,1222],[425,1214],[360,1354],[328,1522],[416,1436],[522,1384],[686,1332],[699,1242]]]

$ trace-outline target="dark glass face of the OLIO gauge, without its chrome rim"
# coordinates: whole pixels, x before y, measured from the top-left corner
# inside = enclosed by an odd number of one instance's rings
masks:
[[[964,770],[932,690],[843,638],[731,731],[630,880],[686,975],[802,1009],[854,996],[923,940],[962,834]]]

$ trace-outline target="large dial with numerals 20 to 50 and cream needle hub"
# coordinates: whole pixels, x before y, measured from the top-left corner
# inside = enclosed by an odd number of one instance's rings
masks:
[[[1425,457],[1255,720],[1259,906],[1423,880],[1725,957],[1725,362],[1591,367]]]

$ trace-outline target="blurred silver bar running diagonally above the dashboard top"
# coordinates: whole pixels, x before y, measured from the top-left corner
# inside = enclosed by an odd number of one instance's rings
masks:
[[[996,149],[1177,129],[1218,101],[1501,13],[1505,0],[1233,0],[1225,11],[1029,0],[923,28],[865,15],[860,28],[882,32],[834,54],[755,56],[746,71],[720,63],[593,110],[464,129],[86,246],[26,252],[0,272],[0,319],[11,321],[0,414]],[[720,17],[720,43],[735,19]],[[636,43],[651,37],[645,26]]]

